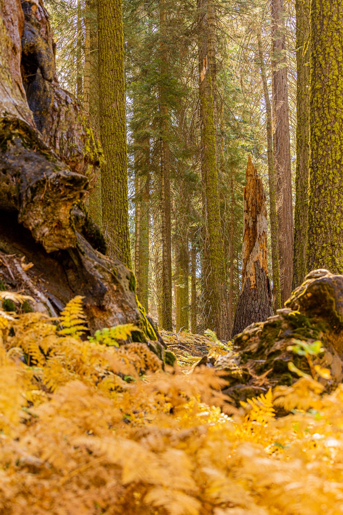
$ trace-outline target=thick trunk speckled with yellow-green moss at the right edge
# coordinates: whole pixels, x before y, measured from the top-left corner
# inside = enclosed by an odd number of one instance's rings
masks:
[[[311,2],[307,269],[343,273],[343,4]]]

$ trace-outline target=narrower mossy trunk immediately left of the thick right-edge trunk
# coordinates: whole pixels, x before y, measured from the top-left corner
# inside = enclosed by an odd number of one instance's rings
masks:
[[[295,177],[292,289],[306,275],[306,240],[310,159],[310,0],[296,0],[297,168]]]

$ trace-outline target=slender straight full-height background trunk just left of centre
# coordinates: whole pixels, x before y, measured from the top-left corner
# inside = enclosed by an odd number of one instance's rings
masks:
[[[160,80],[159,109],[161,116],[160,136],[160,166],[161,166],[161,219],[162,219],[162,295],[163,295],[163,328],[173,330],[172,324],[172,269],[171,269],[171,199],[170,199],[170,167],[168,143],[168,105],[166,89],[163,84],[168,73],[168,55],[165,44],[166,37],[166,6],[165,1],[159,2],[160,21]]]

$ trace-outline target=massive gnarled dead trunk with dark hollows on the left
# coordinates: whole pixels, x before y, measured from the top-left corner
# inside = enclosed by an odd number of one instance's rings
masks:
[[[104,255],[103,236],[85,211],[101,147],[80,103],[60,88],[42,0],[0,0],[0,60],[3,282],[33,297],[40,290],[50,312],[82,295],[91,332],[132,322],[156,340],[139,311],[133,273]],[[23,256],[34,265],[27,273],[17,262]]]

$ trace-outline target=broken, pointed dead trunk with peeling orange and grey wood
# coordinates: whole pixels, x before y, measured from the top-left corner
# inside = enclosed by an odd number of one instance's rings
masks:
[[[234,316],[232,336],[254,322],[273,315],[267,276],[267,208],[262,180],[249,156],[243,191],[242,289]]]

